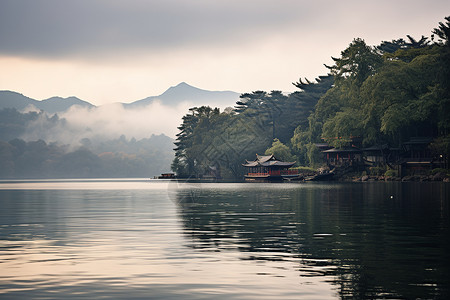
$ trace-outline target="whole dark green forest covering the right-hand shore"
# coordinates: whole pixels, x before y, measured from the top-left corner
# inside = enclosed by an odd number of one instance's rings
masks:
[[[183,117],[172,170],[180,177],[217,172],[242,178],[242,163],[274,154],[319,167],[317,143],[339,148],[432,137],[450,154],[450,17],[430,37],[409,35],[370,46],[355,38],[333,57],[329,74],[293,83],[298,91],[244,93],[234,108],[193,107]]]

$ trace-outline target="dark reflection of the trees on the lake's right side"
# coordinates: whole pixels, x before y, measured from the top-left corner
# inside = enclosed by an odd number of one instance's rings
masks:
[[[449,295],[448,196],[404,183],[177,194],[192,247],[298,261],[301,276],[332,275],[356,298]]]

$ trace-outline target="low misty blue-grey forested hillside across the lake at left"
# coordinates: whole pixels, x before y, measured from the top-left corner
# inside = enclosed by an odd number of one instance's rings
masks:
[[[52,128],[75,136],[56,114],[0,110],[0,178],[151,177],[168,171],[173,159],[173,140],[162,134],[140,140],[95,136],[70,144],[23,139]]]

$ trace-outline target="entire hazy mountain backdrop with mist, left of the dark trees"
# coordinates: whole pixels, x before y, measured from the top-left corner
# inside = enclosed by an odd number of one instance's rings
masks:
[[[173,138],[189,108],[238,99],[184,82],[160,96],[102,106],[0,91],[0,178],[153,177],[170,171]]]

